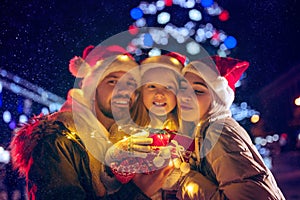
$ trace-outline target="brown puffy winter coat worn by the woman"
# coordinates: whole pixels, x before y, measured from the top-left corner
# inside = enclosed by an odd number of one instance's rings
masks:
[[[181,180],[178,197],[285,199],[248,133],[231,117],[203,125],[196,144],[194,170]]]

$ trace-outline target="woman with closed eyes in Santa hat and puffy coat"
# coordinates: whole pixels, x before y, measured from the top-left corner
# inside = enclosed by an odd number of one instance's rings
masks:
[[[183,129],[195,137],[195,154],[177,197],[285,199],[248,133],[231,117],[234,84],[249,63],[213,58],[217,68],[203,60],[183,70],[179,106]]]

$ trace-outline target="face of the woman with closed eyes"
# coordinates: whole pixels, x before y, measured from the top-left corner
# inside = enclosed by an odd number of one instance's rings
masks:
[[[184,121],[198,123],[209,111],[212,96],[205,81],[194,73],[187,72],[186,80],[179,84],[178,104]]]

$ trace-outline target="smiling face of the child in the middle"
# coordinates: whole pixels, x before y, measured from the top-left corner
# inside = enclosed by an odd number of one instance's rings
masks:
[[[157,116],[170,113],[176,106],[177,84],[173,72],[154,68],[143,75],[143,102],[147,110]]]

